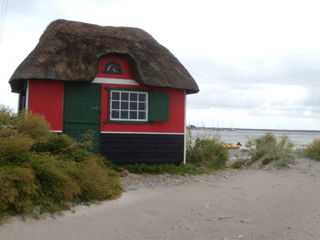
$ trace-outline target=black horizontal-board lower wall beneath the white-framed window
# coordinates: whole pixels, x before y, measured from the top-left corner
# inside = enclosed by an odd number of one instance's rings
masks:
[[[115,164],[180,164],[183,134],[101,133],[100,154]]]

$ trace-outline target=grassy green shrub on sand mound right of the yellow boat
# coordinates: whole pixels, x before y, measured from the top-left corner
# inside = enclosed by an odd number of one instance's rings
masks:
[[[256,160],[264,157],[262,165],[275,162],[278,166],[288,166],[289,163],[294,163],[295,153],[294,144],[287,135],[277,139],[271,132],[266,132],[262,136],[248,138],[245,143],[245,149],[242,152],[247,152],[251,156],[252,164]]]

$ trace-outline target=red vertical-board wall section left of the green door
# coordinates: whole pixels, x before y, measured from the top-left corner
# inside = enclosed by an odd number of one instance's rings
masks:
[[[62,131],[63,86],[61,81],[29,80],[28,109],[44,114],[54,131]]]

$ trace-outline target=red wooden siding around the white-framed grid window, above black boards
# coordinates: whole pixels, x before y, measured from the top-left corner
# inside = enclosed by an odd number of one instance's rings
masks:
[[[169,122],[154,122],[154,124],[116,124],[103,123],[108,118],[108,91],[104,88],[126,87],[139,89],[153,89],[155,92],[169,93]],[[163,132],[163,133],[184,133],[184,101],[185,91],[183,89],[155,88],[144,86],[102,84],[101,94],[101,131],[102,132]]]

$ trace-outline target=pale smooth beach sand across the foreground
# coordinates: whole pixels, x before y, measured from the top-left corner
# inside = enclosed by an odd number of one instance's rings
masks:
[[[0,239],[320,239],[320,162],[202,178],[127,190],[65,216],[12,219]]]

